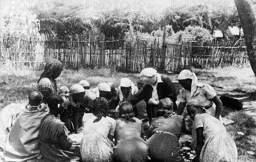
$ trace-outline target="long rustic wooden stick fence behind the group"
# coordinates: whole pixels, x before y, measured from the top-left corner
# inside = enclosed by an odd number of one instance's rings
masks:
[[[103,35],[74,35],[61,38],[49,34],[40,37],[0,36],[0,66],[30,66],[41,70],[51,58],[65,67],[107,67],[123,72],[140,72],[143,68],[163,68],[179,72],[188,66],[215,67],[248,63],[244,46],[202,46],[190,42],[165,43],[154,39],[151,45],[137,37],[131,45],[126,38]],[[221,44],[220,44],[221,45]],[[164,61],[162,61],[164,59]]]

